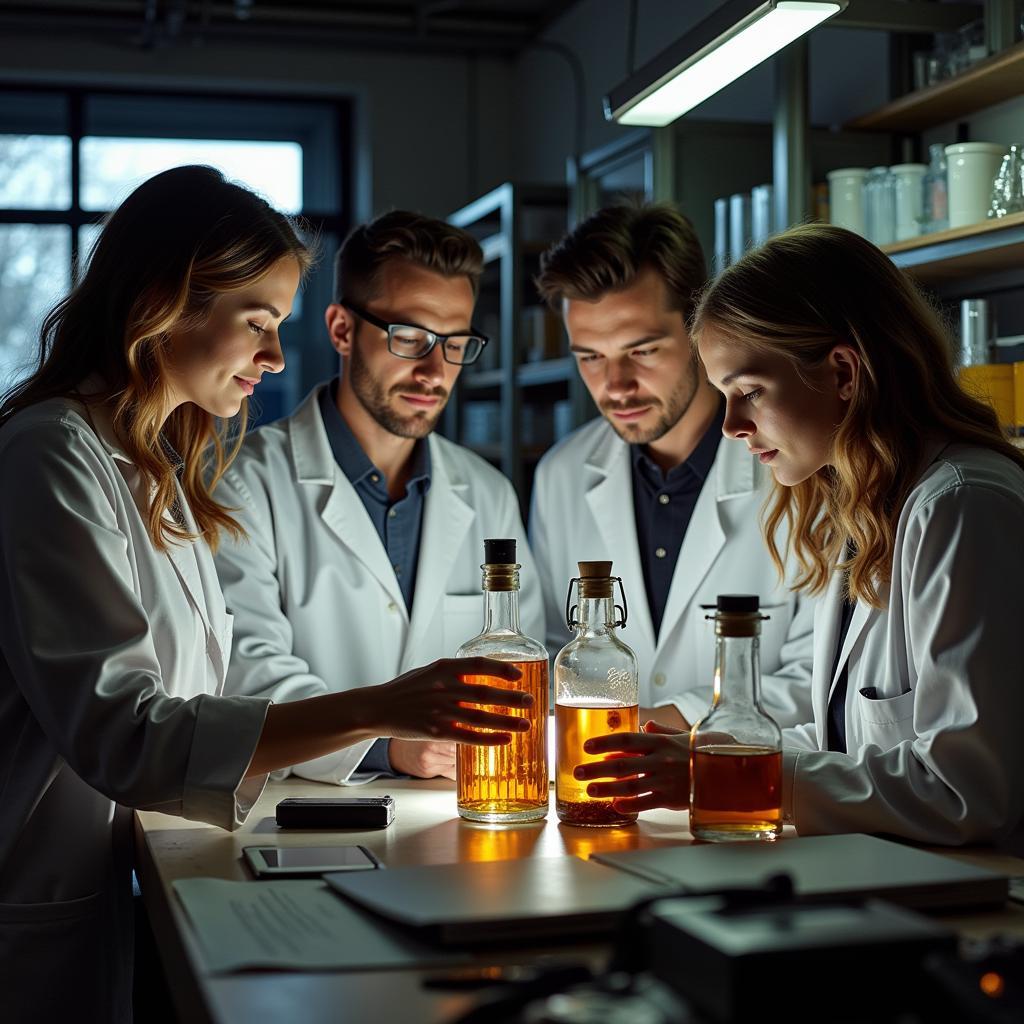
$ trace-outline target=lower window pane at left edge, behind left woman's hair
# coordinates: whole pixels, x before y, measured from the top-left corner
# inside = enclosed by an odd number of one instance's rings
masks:
[[[70,275],[71,228],[0,224],[0,390],[35,369],[43,317]]]

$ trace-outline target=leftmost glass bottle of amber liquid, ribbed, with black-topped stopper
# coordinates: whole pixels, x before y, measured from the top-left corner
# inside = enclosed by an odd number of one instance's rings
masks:
[[[548,814],[548,651],[519,629],[515,547],[514,540],[483,542],[483,632],[464,643],[456,657],[511,662],[522,673],[517,680],[465,679],[532,694],[529,708],[502,709],[524,716],[530,726],[513,733],[504,746],[456,745],[459,814],[470,821],[539,821]]]

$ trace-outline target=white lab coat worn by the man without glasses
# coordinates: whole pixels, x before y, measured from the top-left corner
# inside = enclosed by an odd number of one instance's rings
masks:
[[[714,624],[702,604],[719,594],[757,594],[762,623],[761,688],[780,725],[808,721],[813,604],[779,583],[761,534],[765,470],[745,446],[723,438],[700,489],[676,562],[657,639],[647,605],[629,445],[603,419],[570,434],[537,470],[529,536],[544,586],[548,645],[569,638],[565,593],[583,559],[611,559],[629,618],[622,638],[637,655],[640,703],[674,703],[695,722],[711,703]],[[616,592],[617,597],[617,592]]]

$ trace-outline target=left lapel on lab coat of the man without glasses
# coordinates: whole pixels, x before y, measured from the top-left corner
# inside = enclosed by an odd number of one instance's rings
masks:
[[[581,551],[574,557],[579,560],[614,559],[612,574],[622,577],[623,589],[628,597],[628,642],[634,648],[645,643],[648,650],[653,650],[654,627],[647,606],[647,589],[637,543],[629,445],[617,436],[612,436],[608,443],[591,455],[587,466],[595,480],[587,490],[587,504],[600,530],[603,549]],[[637,634],[642,636],[642,641],[633,639]]]

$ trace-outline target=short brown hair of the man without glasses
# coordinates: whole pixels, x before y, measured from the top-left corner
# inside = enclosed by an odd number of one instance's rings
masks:
[[[648,267],[665,281],[671,308],[688,321],[708,270],[693,225],[667,203],[599,210],[541,257],[536,284],[561,312],[564,299],[594,302],[629,288]]]

